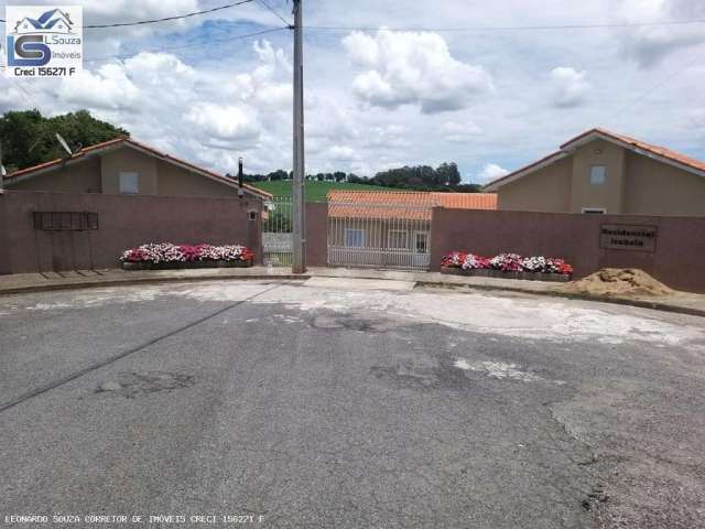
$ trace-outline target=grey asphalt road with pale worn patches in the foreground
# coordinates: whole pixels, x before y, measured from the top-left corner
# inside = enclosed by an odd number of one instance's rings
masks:
[[[0,298],[0,523],[705,527],[704,320],[315,284]]]

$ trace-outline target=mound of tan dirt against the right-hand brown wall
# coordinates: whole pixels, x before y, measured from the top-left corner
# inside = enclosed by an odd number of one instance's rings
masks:
[[[604,268],[560,289],[570,294],[606,296],[673,294],[673,290],[638,268]]]

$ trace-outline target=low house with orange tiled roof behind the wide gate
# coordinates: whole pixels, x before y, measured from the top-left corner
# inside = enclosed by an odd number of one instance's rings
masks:
[[[328,193],[328,263],[426,269],[434,207],[496,209],[488,193]]]

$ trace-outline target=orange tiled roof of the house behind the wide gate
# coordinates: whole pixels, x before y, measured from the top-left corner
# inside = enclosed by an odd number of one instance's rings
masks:
[[[432,207],[497,209],[497,195],[345,190],[328,192],[328,216],[337,218],[431,220]]]

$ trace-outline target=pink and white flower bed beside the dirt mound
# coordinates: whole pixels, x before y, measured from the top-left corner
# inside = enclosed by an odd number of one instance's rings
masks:
[[[573,267],[563,259],[554,257],[521,257],[519,253],[500,253],[488,258],[464,251],[452,251],[443,256],[441,272],[458,276],[570,281]]]

